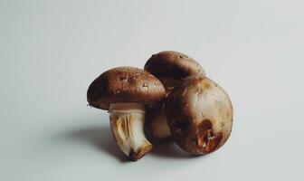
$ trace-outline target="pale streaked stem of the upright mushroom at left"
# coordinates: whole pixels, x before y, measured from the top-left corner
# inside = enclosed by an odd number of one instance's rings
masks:
[[[145,107],[139,103],[115,103],[109,106],[112,134],[121,151],[138,160],[152,148],[144,133]]]

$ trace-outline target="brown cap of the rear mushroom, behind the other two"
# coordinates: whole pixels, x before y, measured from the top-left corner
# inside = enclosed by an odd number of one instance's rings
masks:
[[[145,64],[148,71],[160,78],[182,79],[191,75],[204,76],[203,67],[181,52],[165,51],[152,55]]]

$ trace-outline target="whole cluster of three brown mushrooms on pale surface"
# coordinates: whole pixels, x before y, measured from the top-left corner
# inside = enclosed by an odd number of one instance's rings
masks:
[[[232,131],[227,93],[180,52],[154,54],[144,70],[118,67],[101,73],[91,82],[87,99],[90,106],[109,110],[113,137],[134,161],[152,149],[145,121],[153,138],[173,138],[192,155],[214,152]]]

